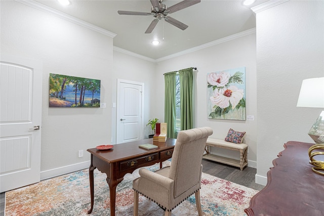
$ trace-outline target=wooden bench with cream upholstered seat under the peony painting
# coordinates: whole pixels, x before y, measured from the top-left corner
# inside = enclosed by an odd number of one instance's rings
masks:
[[[240,159],[235,160],[235,159],[211,154],[209,149],[210,146],[239,151]],[[205,150],[207,152],[206,154],[203,155],[203,158],[205,159],[236,166],[239,167],[240,170],[243,170],[243,168],[248,165],[248,145],[247,144],[244,143],[236,144],[236,143],[226,142],[224,140],[208,138],[206,142]]]

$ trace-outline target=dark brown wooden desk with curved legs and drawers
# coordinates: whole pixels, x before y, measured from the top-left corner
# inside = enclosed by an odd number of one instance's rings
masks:
[[[154,144],[158,148],[146,150],[138,147],[140,144]],[[117,144],[113,149],[100,151],[96,148],[88,149],[91,153],[91,164],[89,167],[91,208],[94,204],[94,176],[93,172],[97,168],[107,175],[110,195],[110,215],[115,215],[116,187],[123,181],[127,173],[132,173],[135,169],[143,166],[150,166],[172,157],[176,139],[168,138],[166,142],[154,142],[153,139],[140,140],[130,143]]]

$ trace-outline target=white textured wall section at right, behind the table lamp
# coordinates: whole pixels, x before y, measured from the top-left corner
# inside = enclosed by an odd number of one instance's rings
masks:
[[[265,185],[286,142],[313,143],[307,133],[321,109],[296,105],[302,80],[324,76],[324,2],[284,2],[257,12],[256,20],[256,182]]]

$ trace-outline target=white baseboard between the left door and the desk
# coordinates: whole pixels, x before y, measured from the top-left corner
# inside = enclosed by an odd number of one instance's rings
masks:
[[[75,163],[75,164],[71,164],[71,165],[67,165],[67,166],[58,167],[55,169],[41,171],[41,181],[50,179],[53,177],[61,176],[64,174],[68,174],[70,172],[74,172],[77,170],[89,168],[89,166],[90,166],[90,160],[82,162],[82,163]]]

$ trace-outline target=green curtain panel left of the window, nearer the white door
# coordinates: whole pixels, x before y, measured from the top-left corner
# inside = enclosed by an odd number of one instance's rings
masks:
[[[165,80],[165,122],[169,138],[176,137],[176,71],[166,73]]]

